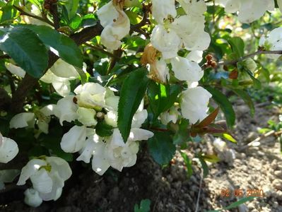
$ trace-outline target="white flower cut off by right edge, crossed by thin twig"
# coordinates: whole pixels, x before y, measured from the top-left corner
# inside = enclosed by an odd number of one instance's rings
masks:
[[[270,51],[281,51],[282,50],[282,28],[276,28],[272,30],[268,36],[261,37],[259,40],[259,46],[265,47]],[[266,54],[266,57],[272,59],[278,59],[281,54]]]

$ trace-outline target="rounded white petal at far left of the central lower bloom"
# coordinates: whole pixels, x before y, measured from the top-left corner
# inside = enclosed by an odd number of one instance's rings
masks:
[[[76,153],[86,142],[86,126],[73,126],[61,139],[61,149],[66,153]]]

